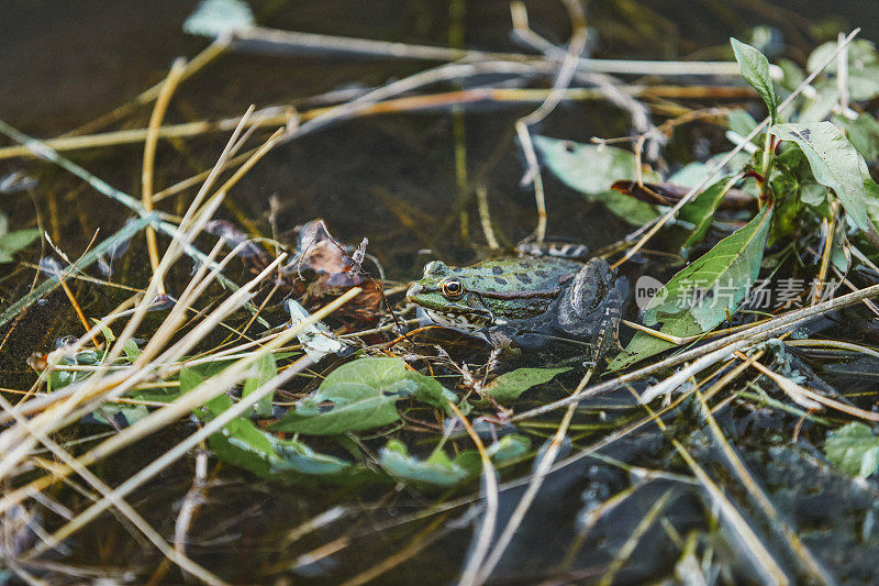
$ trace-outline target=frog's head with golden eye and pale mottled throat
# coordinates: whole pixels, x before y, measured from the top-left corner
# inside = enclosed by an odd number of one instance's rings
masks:
[[[424,276],[409,288],[405,299],[424,308],[441,325],[478,330],[494,321],[479,294],[468,289],[466,269],[449,267],[439,261],[424,266]]]

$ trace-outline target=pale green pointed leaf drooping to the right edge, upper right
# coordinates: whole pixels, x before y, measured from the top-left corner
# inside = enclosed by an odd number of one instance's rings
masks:
[[[815,180],[833,189],[852,221],[879,243],[879,232],[867,215],[861,157],[839,129],[832,122],[810,122],[776,124],[769,132],[797,143],[809,159]]]

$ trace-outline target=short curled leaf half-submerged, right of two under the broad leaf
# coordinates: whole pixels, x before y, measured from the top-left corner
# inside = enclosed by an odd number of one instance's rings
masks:
[[[394,478],[434,486],[455,486],[479,476],[482,464],[476,450],[461,452],[455,460],[441,449],[426,460],[409,455],[405,444],[390,440],[379,451],[379,465]]]

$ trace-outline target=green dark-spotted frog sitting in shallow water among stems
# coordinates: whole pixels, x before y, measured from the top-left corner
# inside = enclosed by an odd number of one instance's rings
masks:
[[[407,300],[435,323],[476,333],[496,347],[530,350],[574,339],[590,343],[598,357],[619,349],[626,289],[602,258],[522,256],[468,267],[433,261]]]

